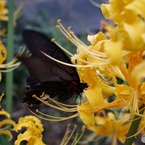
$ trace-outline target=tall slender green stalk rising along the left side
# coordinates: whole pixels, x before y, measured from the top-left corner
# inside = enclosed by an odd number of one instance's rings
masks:
[[[8,26],[7,26],[7,62],[11,61],[13,58],[13,9],[14,1],[8,0]],[[12,87],[13,87],[13,72],[6,73],[6,110],[11,114],[12,112]],[[11,142],[6,137],[5,145],[11,145]]]

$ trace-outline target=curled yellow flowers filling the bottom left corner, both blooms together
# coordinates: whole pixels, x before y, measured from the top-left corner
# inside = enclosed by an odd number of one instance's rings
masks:
[[[3,93],[0,96],[0,101],[2,100]],[[23,134],[19,134],[17,140],[15,141],[15,145],[20,145],[22,141],[27,141],[27,145],[45,145],[42,141],[42,132],[43,125],[40,120],[35,116],[25,116],[20,117],[18,123],[16,124],[10,118],[10,114],[3,109],[0,110],[0,117],[3,120],[0,120],[0,135],[8,135],[9,140],[13,138],[11,131],[18,132],[22,128],[26,128],[26,131]],[[4,118],[5,117],[5,118]],[[13,126],[13,129],[10,130],[10,125]]]

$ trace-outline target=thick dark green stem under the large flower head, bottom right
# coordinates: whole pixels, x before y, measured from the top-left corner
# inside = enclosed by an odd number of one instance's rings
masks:
[[[139,107],[139,113],[140,114],[143,114],[144,110],[145,110],[145,106],[144,105]],[[132,145],[133,144],[133,141],[134,141],[134,138],[135,138],[135,134],[137,133],[138,127],[139,127],[140,122],[141,122],[141,119],[142,119],[142,117],[139,116],[139,115],[135,115],[134,116],[133,121],[132,121],[132,123],[130,125],[130,129],[129,129],[128,133],[127,133],[124,145]]]

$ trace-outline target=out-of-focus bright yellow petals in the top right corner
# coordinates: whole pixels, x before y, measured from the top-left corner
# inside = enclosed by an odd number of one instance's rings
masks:
[[[101,6],[104,16],[117,24],[116,41],[122,41],[124,50],[144,50],[144,4],[144,0],[110,0],[110,4],[102,4]],[[114,33],[112,32],[112,35]]]

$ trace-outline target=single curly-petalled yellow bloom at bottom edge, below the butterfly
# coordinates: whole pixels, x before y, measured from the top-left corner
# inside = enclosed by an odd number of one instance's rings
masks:
[[[26,131],[18,135],[15,145],[21,144],[23,140],[26,140],[28,145],[45,145],[42,141],[44,129],[38,118],[31,115],[19,118],[14,130],[18,132],[23,127],[26,128]]]

